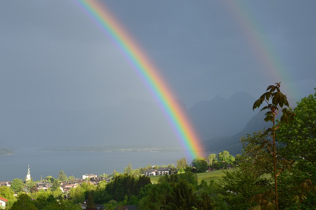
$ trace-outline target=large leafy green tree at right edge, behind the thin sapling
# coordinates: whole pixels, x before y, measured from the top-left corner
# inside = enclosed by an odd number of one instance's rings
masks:
[[[283,189],[290,185],[293,191],[291,196],[282,193],[282,203],[294,200],[299,208],[307,209],[308,206],[316,205],[316,93],[303,98],[293,112],[294,120],[280,125],[277,130],[277,140],[285,145],[281,154],[295,160],[295,164],[291,173],[278,178]]]

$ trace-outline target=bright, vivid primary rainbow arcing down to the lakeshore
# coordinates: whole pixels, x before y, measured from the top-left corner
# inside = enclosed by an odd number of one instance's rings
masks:
[[[153,96],[158,99],[159,105],[188,155],[192,159],[203,157],[203,146],[184,110],[176,102],[171,89],[131,35],[124,30],[104,4],[97,0],[74,0],[74,2],[98,25],[105,35],[113,40],[131,66],[142,77]]]

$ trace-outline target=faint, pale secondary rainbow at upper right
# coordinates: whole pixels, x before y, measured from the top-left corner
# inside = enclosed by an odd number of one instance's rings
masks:
[[[233,16],[233,20],[239,26],[240,32],[248,42],[253,51],[255,59],[265,69],[265,76],[273,82],[280,82],[285,93],[298,95],[296,88],[290,85],[289,74],[286,67],[271,40],[261,28],[256,20],[255,13],[252,12],[250,5],[243,1],[224,0],[222,1],[228,13]]]

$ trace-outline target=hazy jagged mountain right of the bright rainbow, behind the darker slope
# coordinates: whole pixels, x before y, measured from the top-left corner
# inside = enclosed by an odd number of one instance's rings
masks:
[[[230,99],[217,96],[192,106],[188,114],[202,140],[229,137],[240,132],[258,112],[252,110],[254,102],[247,93],[236,93]]]

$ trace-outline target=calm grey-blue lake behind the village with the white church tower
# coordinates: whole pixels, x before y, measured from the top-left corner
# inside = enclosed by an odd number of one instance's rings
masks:
[[[14,155],[0,156],[0,181],[12,181],[14,178],[25,179],[30,165],[33,180],[40,180],[40,175],[57,178],[63,170],[67,176],[81,178],[84,174],[112,174],[114,170],[124,171],[128,163],[133,169],[173,164],[177,159],[187,158],[185,151],[173,152],[68,152],[41,151],[39,148],[22,148]]]

